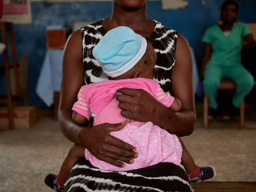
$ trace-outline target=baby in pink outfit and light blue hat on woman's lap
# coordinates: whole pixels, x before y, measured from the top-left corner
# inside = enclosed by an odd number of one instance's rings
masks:
[[[123,87],[142,89],[173,111],[181,109],[179,99],[164,92],[153,79],[156,52],[151,43],[128,27],[111,29],[93,49],[109,79],[84,85],[73,106],[73,121],[84,125],[93,117],[93,126],[103,123],[123,123],[123,129],[110,132],[122,141],[133,145],[138,155],[131,164],[117,167],[94,157],[85,147],[74,145],[61,166],[58,176],[47,174],[45,183],[55,191],[62,191],[66,178],[79,158],[85,157],[95,167],[109,171],[127,171],[148,167],[161,162],[185,165],[190,182],[201,182],[213,178],[213,167],[198,167],[183,142],[152,122],[138,122],[121,115],[118,107],[118,90]],[[183,150],[182,150],[183,149]]]

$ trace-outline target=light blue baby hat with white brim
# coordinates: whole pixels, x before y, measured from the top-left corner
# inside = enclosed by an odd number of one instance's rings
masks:
[[[125,26],[109,30],[95,45],[92,54],[109,77],[129,71],[143,57],[147,49],[144,37]]]

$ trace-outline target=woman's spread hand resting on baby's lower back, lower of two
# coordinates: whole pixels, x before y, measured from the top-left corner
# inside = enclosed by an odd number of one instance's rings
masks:
[[[134,158],[138,157],[136,148],[124,141],[116,139],[109,133],[121,130],[126,122],[119,124],[104,123],[94,127],[86,127],[81,133],[81,142],[85,144],[90,153],[98,159],[123,167],[125,163],[132,164]],[[84,138],[83,138],[84,137]]]

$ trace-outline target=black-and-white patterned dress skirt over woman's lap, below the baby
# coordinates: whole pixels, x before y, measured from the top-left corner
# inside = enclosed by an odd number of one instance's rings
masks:
[[[172,163],[159,163],[143,169],[114,172],[93,167],[81,159],[69,173],[66,192],[84,191],[194,191],[186,172]]]

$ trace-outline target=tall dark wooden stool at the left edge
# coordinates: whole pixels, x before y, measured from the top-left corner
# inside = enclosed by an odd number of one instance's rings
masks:
[[[1,67],[4,67],[5,82],[6,82],[6,95],[0,95],[0,103],[6,104],[8,106],[9,114],[9,129],[14,129],[13,122],[13,103],[16,105],[21,105],[21,94],[20,94],[20,84],[19,84],[19,73],[18,73],[18,61],[15,50],[15,41],[13,33],[13,25],[11,22],[0,22],[0,31],[2,33],[2,41],[6,45],[4,50],[4,62],[1,63]],[[9,41],[7,39],[9,37]],[[10,47],[9,47],[10,45]],[[11,58],[9,60],[9,49],[11,49]],[[11,69],[13,69],[14,74],[14,85],[15,94],[12,94],[11,87]]]

